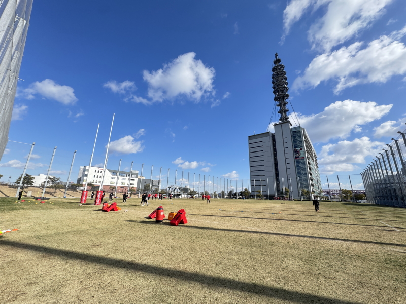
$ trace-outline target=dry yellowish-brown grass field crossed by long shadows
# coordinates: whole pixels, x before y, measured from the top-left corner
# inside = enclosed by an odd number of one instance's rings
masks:
[[[406,209],[28,200],[0,199],[0,303],[406,303]],[[159,205],[188,223],[146,219]]]

